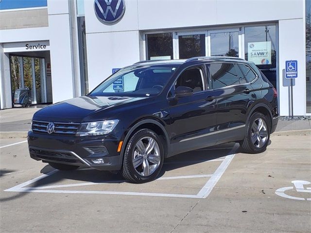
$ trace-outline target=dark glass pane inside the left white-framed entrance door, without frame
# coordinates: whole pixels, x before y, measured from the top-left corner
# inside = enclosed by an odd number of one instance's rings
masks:
[[[205,34],[179,35],[179,58],[205,56]]]

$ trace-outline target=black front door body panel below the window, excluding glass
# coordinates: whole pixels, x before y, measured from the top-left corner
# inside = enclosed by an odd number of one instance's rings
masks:
[[[211,95],[211,91],[203,91],[179,98],[169,108],[174,154],[215,145],[216,135],[205,135],[214,132],[216,126],[216,100],[207,100]]]

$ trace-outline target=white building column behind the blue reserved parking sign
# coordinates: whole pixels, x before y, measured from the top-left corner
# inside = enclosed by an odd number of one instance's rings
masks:
[[[302,18],[279,20],[279,111],[280,116],[291,116],[290,79],[285,79],[285,61],[297,60],[298,78],[293,80],[294,116],[306,115],[306,43]]]

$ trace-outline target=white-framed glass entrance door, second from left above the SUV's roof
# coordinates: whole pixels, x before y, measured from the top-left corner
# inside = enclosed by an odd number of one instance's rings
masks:
[[[207,32],[176,34],[176,59],[207,55]]]

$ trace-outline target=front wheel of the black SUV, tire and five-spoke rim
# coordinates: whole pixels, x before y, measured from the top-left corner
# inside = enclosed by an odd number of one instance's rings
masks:
[[[150,182],[161,171],[163,160],[164,150],[160,137],[152,130],[139,130],[126,145],[122,176],[132,183]]]

